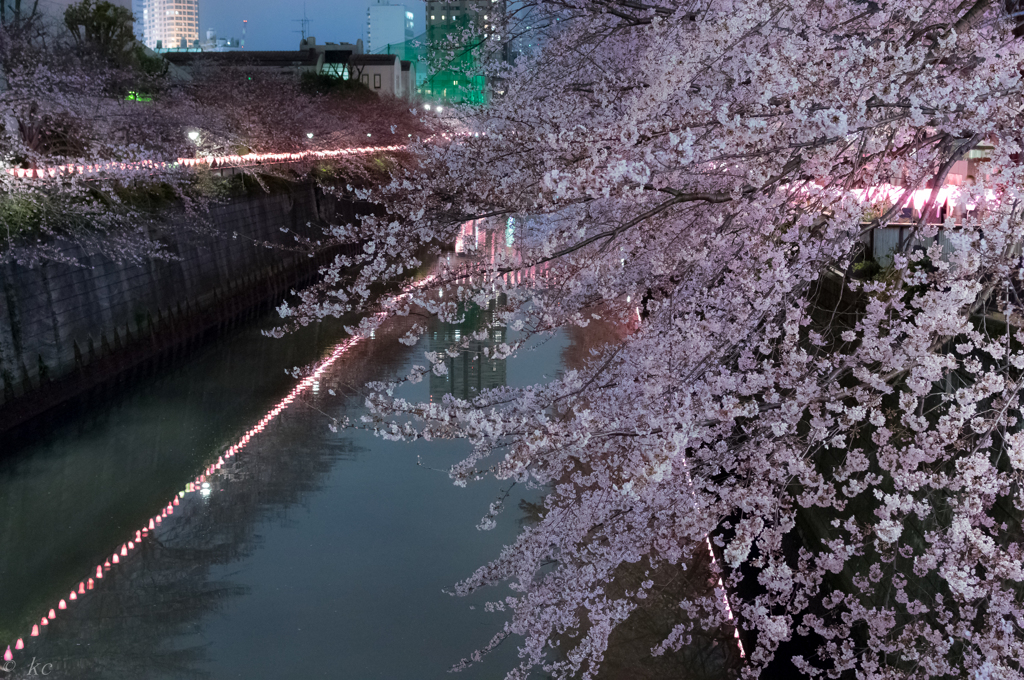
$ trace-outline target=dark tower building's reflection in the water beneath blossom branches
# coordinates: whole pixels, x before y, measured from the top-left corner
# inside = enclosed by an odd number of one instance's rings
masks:
[[[445,350],[485,330],[486,338],[471,340],[468,348],[460,349],[459,355],[445,356],[447,375],[430,374],[430,400],[438,402],[445,394],[459,399],[472,399],[481,391],[507,384],[506,359],[484,356],[484,347],[489,350],[505,342],[506,327],[495,322],[495,310],[504,303],[504,296],[492,300],[485,309],[475,304],[464,310],[462,324],[439,324],[430,334],[430,351],[443,354]],[[489,352],[493,354],[493,351]]]

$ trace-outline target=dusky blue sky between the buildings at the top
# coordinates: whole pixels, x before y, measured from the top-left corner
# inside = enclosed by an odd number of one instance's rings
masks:
[[[392,0],[404,4],[416,14],[416,34],[424,31],[426,19],[422,0]],[[317,43],[366,43],[367,6],[369,0],[305,0],[309,35]],[[298,19],[302,18],[302,0],[199,0],[200,40],[206,39],[207,29],[214,29],[220,38],[241,38],[242,19],[249,19],[246,49],[298,49]],[[136,14],[141,15],[138,0]]]

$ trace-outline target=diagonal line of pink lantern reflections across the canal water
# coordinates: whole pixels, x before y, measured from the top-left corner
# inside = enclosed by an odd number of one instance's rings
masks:
[[[398,295],[394,296],[389,300],[389,304],[384,305],[385,309],[389,306],[392,306],[394,302],[397,302],[403,298],[409,297],[413,293],[413,291],[419,288],[423,288],[434,279],[435,277],[430,275],[407,286],[401,293],[399,293]],[[378,322],[383,321],[386,316],[387,316],[386,311],[379,311],[375,314],[375,317],[377,318]],[[226,462],[228,462],[233,456],[236,456],[239,452],[245,449],[246,445],[253,439],[253,437],[255,437],[257,434],[266,429],[266,426],[269,425],[270,422],[281,414],[281,412],[283,412],[285,409],[291,406],[291,403],[295,401],[295,399],[298,398],[298,396],[302,394],[302,392],[306,391],[312,385],[316,384],[321,376],[323,376],[324,373],[328,369],[330,369],[332,365],[335,364],[335,362],[341,358],[346,352],[348,352],[348,350],[350,350],[355,345],[359,344],[365,339],[366,336],[353,336],[335,345],[331,353],[323,362],[321,362],[319,365],[308,376],[299,381],[299,383],[296,384],[295,387],[293,387],[292,390],[283,399],[281,399],[272,409],[270,409],[270,411],[268,411],[265,416],[260,418],[259,422],[257,422],[249,430],[247,430],[246,433],[243,434],[242,437],[233,445],[228,447],[227,451],[221,454],[220,457],[217,458],[216,462],[208,465],[200,475],[198,475],[193,481],[189,481],[187,484],[185,484],[184,490],[175,494],[174,497],[167,503],[167,505],[163,509],[161,509],[159,514],[150,517],[148,520],[145,523],[143,523],[141,528],[135,529],[135,534],[130,540],[122,543],[120,548],[115,548],[111,556],[108,557],[105,560],[103,560],[103,562],[96,564],[95,572],[90,571],[92,576],[80,581],[78,583],[77,588],[73,587],[67,597],[60,598],[60,601],[56,603],[55,607],[50,608],[49,611],[47,611],[42,618],[40,618],[38,624],[33,624],[32,630],[30,631],[29,635],[25,637],[29,638],[39,637],[43,629],[49,626],[50,622],[52,622],[54,619],[57,618],[58,610],[62,611],[67,609],[69,606],[74,604],[79,598],[87,595],[89,591],[95,589],[96,581],[103,579],[104,575],[106,575],[112,569],[121,564],[125,560],[125,558],[129,556],[131,551],[138,548],[139,545],[141,545],[142,541],[144,541],[148,536],[151,536],[152,533],[155,532],[157,527],[160,526],[165,519],[174,514],[174,508],[180,505],[181,503],[180,499],[183,499],[185,495],[193,494],[196,492],[209,494],[211,485],[208,479],[213,474],[215,474],[218,470],[224,467],[224,464]],[[5,662],[13,661],[14,650],[25,649],[26,646],[25,637],[17,638],[17,640],[14,642],[13,650],[11,649],[11,645],[9,644],[7,645],[7,649],[6,651],[4,651],[3,654],[3,658]]]

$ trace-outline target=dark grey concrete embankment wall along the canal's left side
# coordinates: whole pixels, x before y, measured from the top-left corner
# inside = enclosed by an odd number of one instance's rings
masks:
[[[280,301],[335,254],[288,250],[293,233],[315,239],[316,224],[355,212],[297,184],[214,206],[213,233],[167,228],[161,239],[177,260],[130,265],[71,252],[84,266],[0,265],[0,432]]]

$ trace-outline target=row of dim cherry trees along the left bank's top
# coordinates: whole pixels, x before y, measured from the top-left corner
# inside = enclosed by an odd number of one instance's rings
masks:
[[[73,261],[68,253],[83,248],[119,261],[169,257],[154,238],[168,203],[209,230],[218,198],[180,158],[392,145],[420,132],[404,103],[316,95],[298,74],[200,65],[189,79],[171,77],[125,34],[124,17],[85,0],[62,32],[0,26],[0,259]],[[365,166],[340,159],[330,170],[368,180]],[[313,167],[245,171],[294,179]]]

